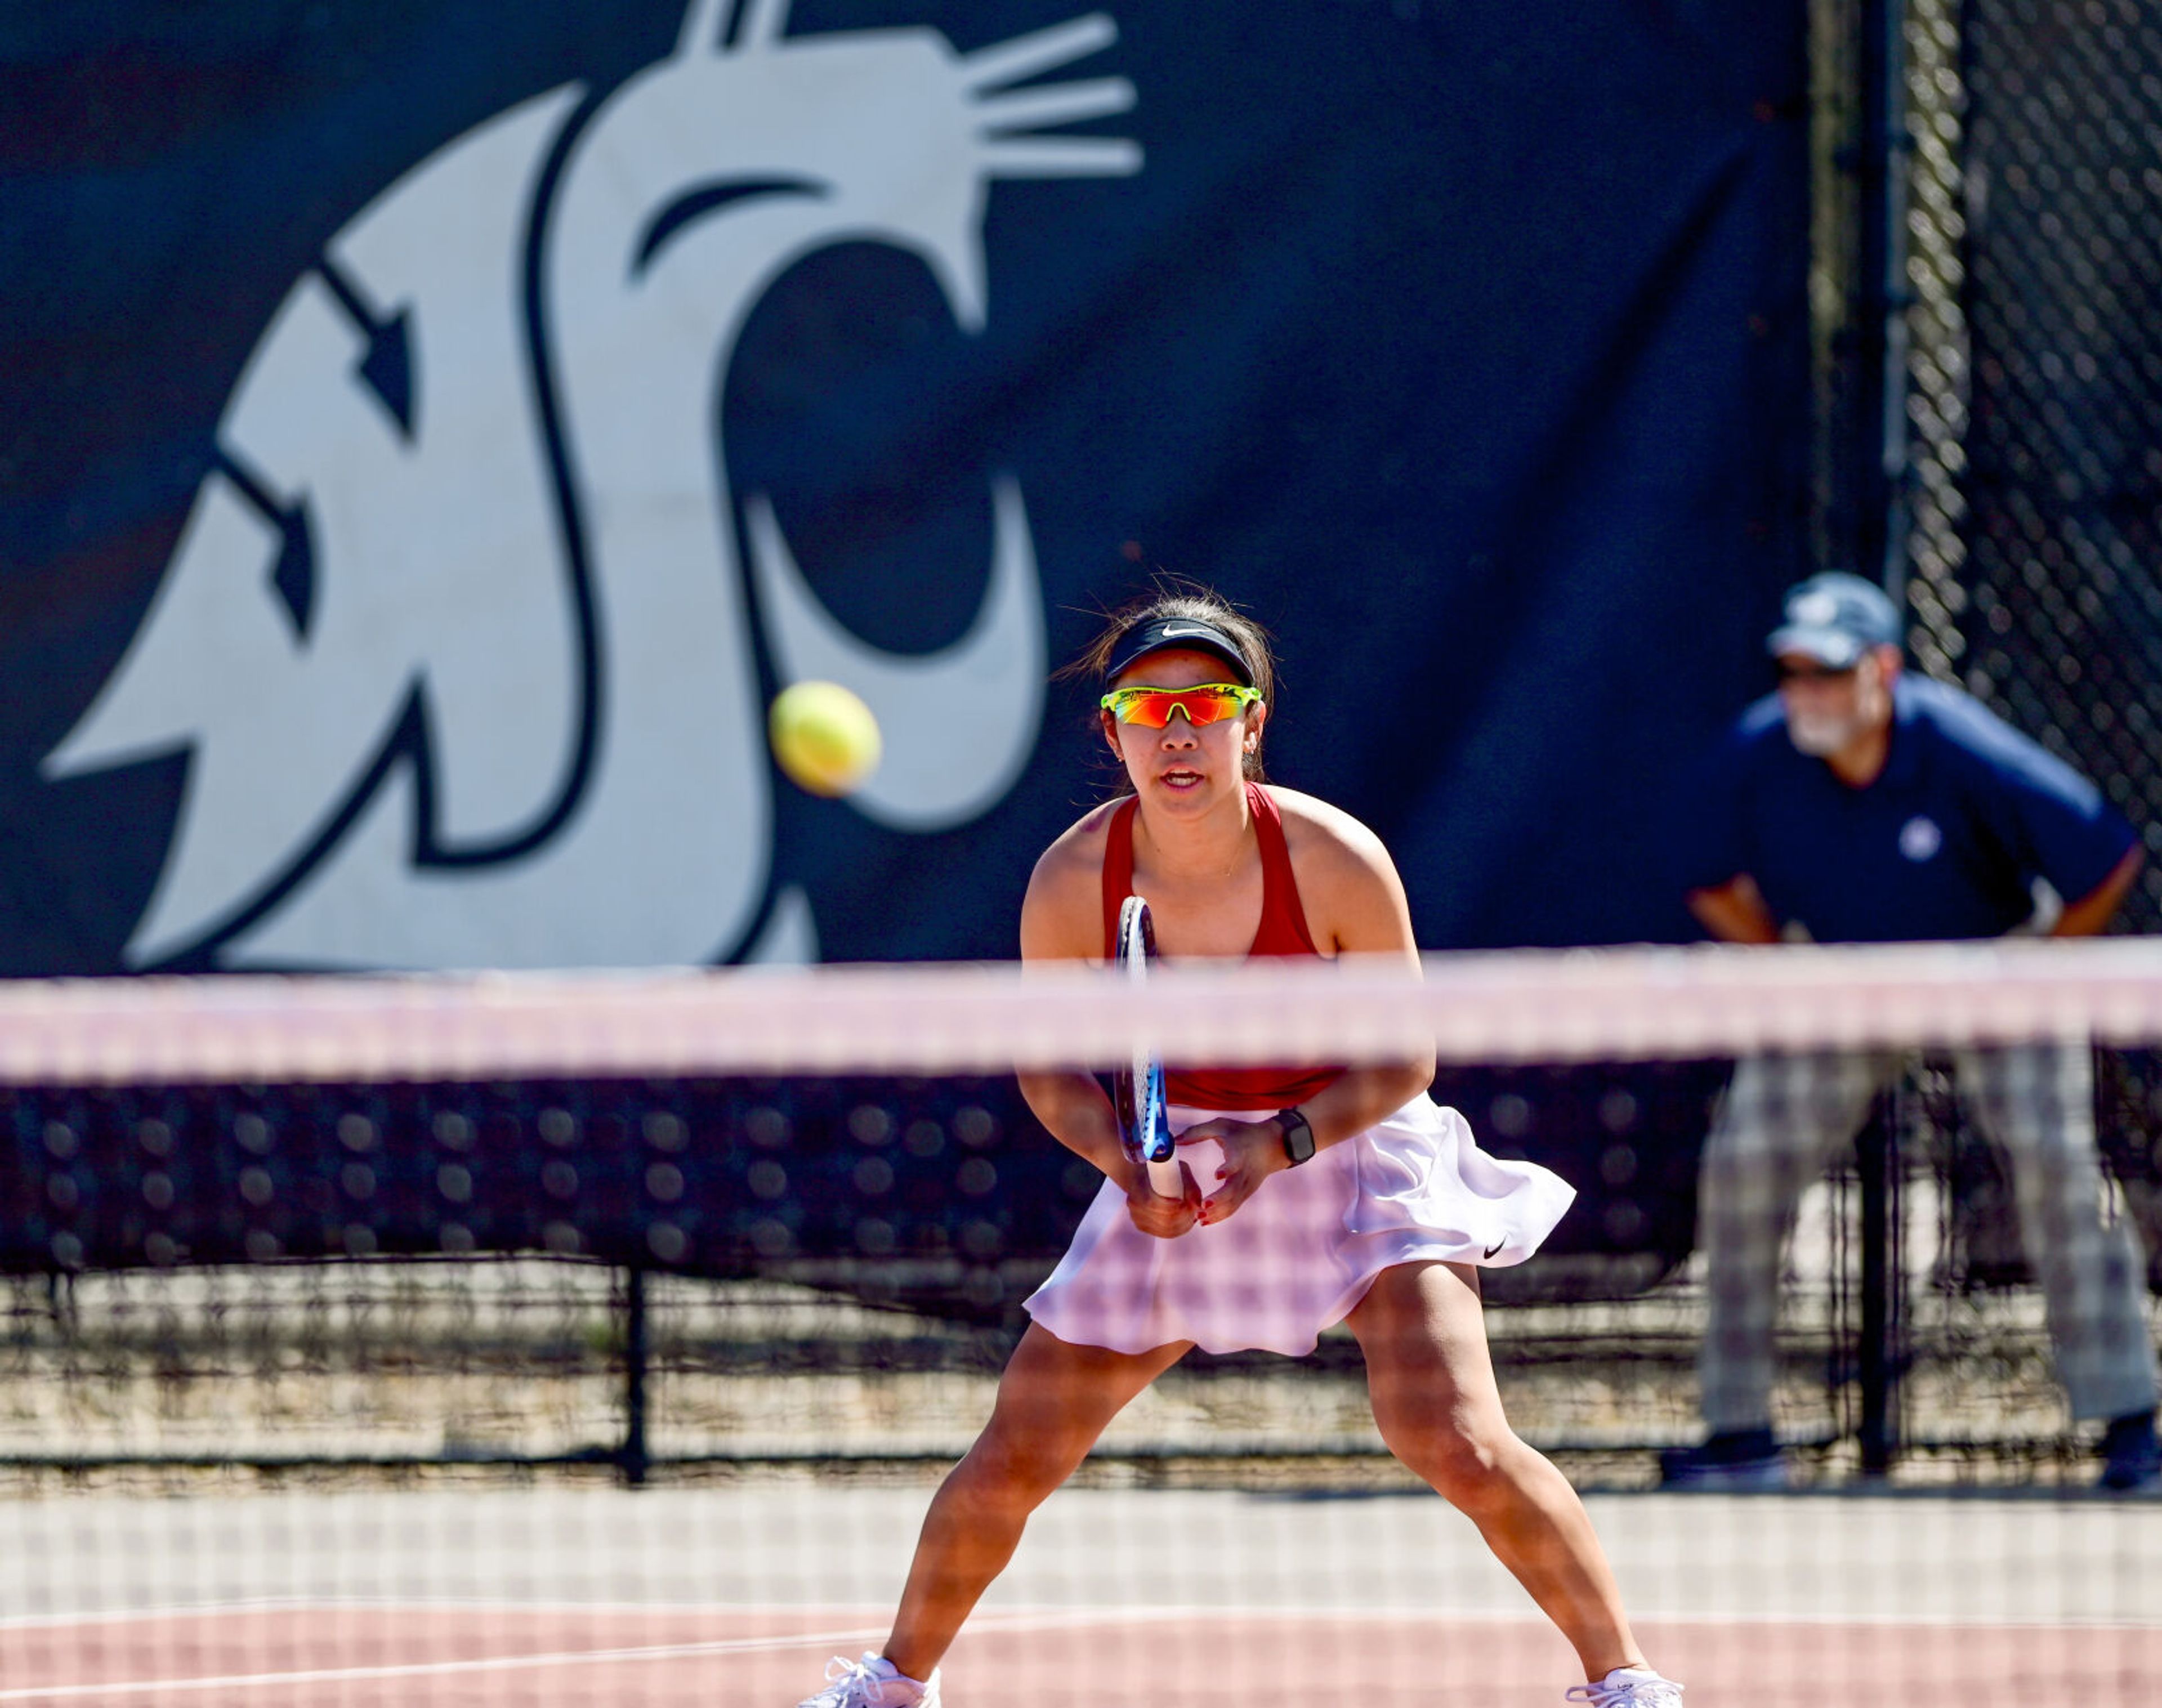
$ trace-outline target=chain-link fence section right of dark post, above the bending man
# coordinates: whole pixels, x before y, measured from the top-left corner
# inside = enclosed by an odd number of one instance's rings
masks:
[[[2162,13],[1909,0],[1905,43],[1916,653],[2162,854]]]

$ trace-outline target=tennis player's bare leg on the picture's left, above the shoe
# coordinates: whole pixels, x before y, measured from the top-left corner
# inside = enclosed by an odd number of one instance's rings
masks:
[[[1072,1477],[1126,1401],[1187,1351],[1185,1340],[1146,1353],[1075,1347],[1029,1325],[999,1377],[990,1423],[932,1496],[886,1660],[930,1678],[1014,1557],[1029,1513]]]

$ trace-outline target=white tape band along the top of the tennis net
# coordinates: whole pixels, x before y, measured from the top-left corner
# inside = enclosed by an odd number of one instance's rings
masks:
[[[0,986],[0,1083],[971,1075],[1174,1062],[1624,1062],[2162,1044],[2147,938],[1565,949],[1401,962],[819,966]]]

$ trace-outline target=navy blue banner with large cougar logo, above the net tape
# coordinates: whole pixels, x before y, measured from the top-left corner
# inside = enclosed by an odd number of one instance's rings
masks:
[[[1420,943],[1686,932],[1799,0],[17,9],[0,102],[4,973],[1007,956],[1155,566]]]

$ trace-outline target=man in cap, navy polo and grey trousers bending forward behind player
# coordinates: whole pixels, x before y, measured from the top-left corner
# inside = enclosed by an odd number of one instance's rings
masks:
[[[1743,713],[1721,755],[1691,910],[1727,943],[2099,932],[2140,867],[2132,826],[1972,696],[1903,675],[1900,633],[1894,603],[1857,575],[1788,592],[1769,642],[1779,692]],[[1905,1051],[1736,1066],[1697,1198],[1708,1438],[1665,1455],[1669,1485],[1784,1483],[1771,1427],[1779,1247],[1801,1193],[1907,1066]],[[2095,1161],[2091,1051],[1961,1051],[1954,1077],[1967,1116],[2011,1157],[2058,1377],[2076,1418],[2106,1423],[2101,1481],[2156,1487],[2145,1265]]]

